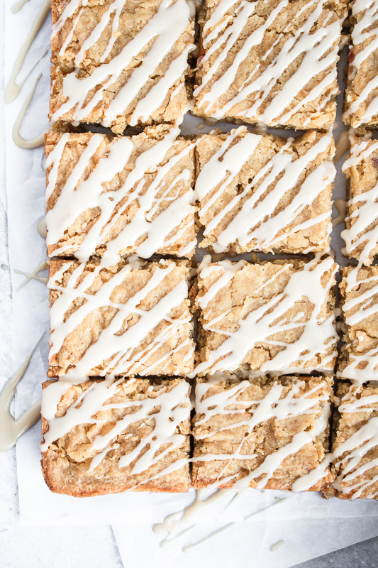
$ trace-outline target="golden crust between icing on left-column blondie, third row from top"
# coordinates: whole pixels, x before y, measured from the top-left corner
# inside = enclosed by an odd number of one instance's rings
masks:
[[[99,259],[93,259],[85,265],[79,263],[79,261],[68,261],[66,259],[50,261],[50,306],[54,306],[61,296],[65,297],[66,289],[67,294],[70,294],[73,285],[74,288],[77,288],[88,275],[99,270],[100,266]],[[72,275],[78,269],[81,269],[81,273],[72,283]],[[163,273],[164,278],[143,296],[143,289],[150,278],[155,271],[161,269],[166,271],[166,273]],[[59,281],[56,280],[57,271],[61,271]],[[87,304],[83,316],[79,315],[77,324],[72,331],[65,335],[65,322],[70,320],[74,312],[79,313],[82,306],[91,301],[91,297],[94,297],[94,302],[96,302],[96,293],[101,293],[101,289],[106,283],[111,285],[112,278],[121,271],[124,273],[123,280],[121,284],[114,285],[109,301],[106,301],[105,298],[103,305],[94,305],[89,312]],[[91,363],[85,367],[83,373],[85,376],[104,376],[104,374],[111,372],[111,368],[113,368],[113,372],[126,376],[138,373],[142,375],[172,374],[175,376],[189,374],[194,366],[193,322],[189,312],[189,299],[187,296],[184,297],[184,287],[187,285],[189,277],[190,268],[187,261],[162,260],[145,263],[140,268],[133,268],[132,270],[128,270],[127,263],[123,262],[115,266],[101,268],[94,278],[94,282],[84,290],[87,294],[87,300],[83,299],[83,292],[77,293],[77,297],[70,302],[68,308],[59,312],[54,319],[57,322],[56,325],[62,328],[63,337],[60,349],[57,352],[50,351],[48,376],[63,376],[71,369],[75,369],[87,350],[92,349],[95,345],[99,349],[96,354],[96,361],[92,361],[93,366]],[[69,286],[69,289],[67,286]],[[134,324],[138,323],[140,317],[147,317],[148,312],[159,305],[160,302],[165,302],[165,297],[177,287],[183,295],[182,302],[179,302],[176,306],[173,305],[170,310],[167,307],[166,313],[164,309],[162,316],[166,317],[158,318],[156,325],[146,324],[145,336],[141,337],[138,346],[133,347],[132,352],[124,359],[123,364],[117,366],[114,355],[110,359],[105,356],[101,359],[101,334],[106,329],[110,329],[109,326],[112,325],[111,322],[118,313],[117,303],[126,304],[135,294],[142,293],[140,302],[138,302],[139,310],[143,310],[141,315],[140,312],[138,315],[133,309],[130,312],[127,311],[122,326],[113,329],[115,338],[120,335],[125,337],[124,334]],[[62,310],[62,307],[60,307],[60,310]],[[55,331],[53,325],[52,320],[52,333]],[[106,333],[109,333],[109,329]],[[159,337],[163,339],[158,339]],[[130,337],[130,339],[132,338]],[[53,346],[53,339],[50,340],[50,346]],[[126,338],[122,349],[125,356],[126,352],[130,351],[130,345]],[[117,359],[119,355],[118,352]]]

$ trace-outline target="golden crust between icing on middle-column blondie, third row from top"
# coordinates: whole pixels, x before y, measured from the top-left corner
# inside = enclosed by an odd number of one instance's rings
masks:
[[[217,264],[213,263],[209,266],[216,267]],[[287,266],[287,269],[283,271],[282,266]],[[335,282],[332,273],[335,266],[333,264],[330,267],[331,270],[325,271],[321,277],[321,285],[325,290],[329,284],[332,285]],[[245,266],[240,266],[238,271],[235,271],[232,280],[216,293],[206,304],[205,309],[201,309],[201,300],[209,293],[211,287],[218,280],[220,272],[214,270],[211,273],[206,273],[204,278],[201,278],[200,274],[193,289],[193,294],[195,293],[194,306],[199,315],[197,363],[205,364],[206,361],[210,361],[213,352],[219,349],[225,341],[225,337],[228,337],[228,334],[234,333],[235,330],[240,328],[240,320],[245,320],[251,312],[262,309],[264,305],[272,302],[274,297],[279,297],[284,292],[291,276],[303,270],[304,262],[297,259],[293,261],[278,260],[274,262],[246,263]],[[296,290],[296,293],[298,293],[298,300],[294,302],[294,305],[289,306],[285,318],[289,322],[293,322],[296,317],[300,317],[301,322],[306,324],[306,322],[311,320],[314,306],[306,297],[306,290]],[[330,292],[325,294],[325,300],[319,306],[318,322],[324,322],[332,317],[334,301],[334,293],[332,286],[330,286]],[[211,329],[206,329],[211,321],[215,321],[216,325],[210,326]],[[257,326],[258,323],[256,322],[255,325]],[[267,361],[273,361],[274,357],[284,349],[281,342],[291,344],[300,341],[303,332],[303,327],[294,326],[288,334],[280,332],[279,326],[272,327],[269,342],[265,341],[266,336],[260,336],[260,340],[256,339],[255,342],[251,343],[251,348],[238,366],[238,370],[261,371],[262,366],[267,364]],[[241,340],[247,341],[244,332],[240,334]],[[291,366],[293,369],[298,368],[297,372],[306,373],[318,370],[323,373],[332,373],[336,360],[335,347],[336,332],[333,330],[333,336],[330,337],[328,344],[325,346],[319,344],[319,352],[313,354],[311,359],[305,362],[305,371],[301,371],[302,363],[299,361],[291,361]],[[324,349],[324,352],[322,352],[322,349]],[[328,356],[332,354],[333,356],[327,361]],[[273,365],[274,363],[272,364],[272,372],[276,371]],[[227,368],[225,370],[235,371],[235,368]],[[201,375],[204,374],[202,370],[197,372]],[[206,372],[211,373],[213,369],[210,368],[208,370],[206,368]],[[291,370],[290,372],[296,371]]]

